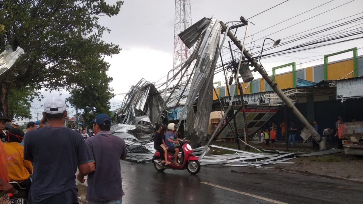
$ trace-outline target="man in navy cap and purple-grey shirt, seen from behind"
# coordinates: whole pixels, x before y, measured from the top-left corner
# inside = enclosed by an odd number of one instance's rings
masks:
[[[110,132],[111,118],[106,114],[98,114],[93,123],[95,136],[86,142],[88,162],[95,162],[95,171],[87,177],[87,201],[89,204],[121,204],[125,195],[121,185],[120,159],[126,159],[125,141]],[[84,174],[78,174],[82,183]]]

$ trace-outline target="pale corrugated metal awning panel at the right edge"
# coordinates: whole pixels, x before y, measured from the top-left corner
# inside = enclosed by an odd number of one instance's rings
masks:
[[[363,78],[351,78],[337,81],[337,99],[363,97]]]

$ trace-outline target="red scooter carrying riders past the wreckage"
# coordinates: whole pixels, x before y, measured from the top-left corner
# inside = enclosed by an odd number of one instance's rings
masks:
[[[200,170],[200,163],[196,156],[193,155],[193,149],[185,140],[180,141],[180,146],[182,147],[180,152],[183,158],[182,164],[180,166],[175,166],[174,163],[171,164],[162,164],[160,158],[160,152],[156,151],[154,154],[154,158],[151,160],[154,163],[154,167],[157,171],[164,171],[167,168],[183,170],[187,169],[189,173],[196,174]],[[168,152],[168,158],[166,161],[171,162],[174,158],[174,153],[171,154]]]

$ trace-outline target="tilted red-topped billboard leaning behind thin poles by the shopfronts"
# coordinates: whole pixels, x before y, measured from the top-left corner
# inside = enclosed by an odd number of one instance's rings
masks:
[[[260,132],[261,127],[263,127],[266,122],[269,121],[278,111],[280,107],[278,106],[245,106],[246,111],[246,120],[247,120],[247,128],[248,135],[252,137],[256,132]],[[243,123],[243,112],[242,108],[238,109],[238,111],[234,114],[234,118],[236,118],[236,126],[237,126],[237,135],[238,137],[244,137],[244,123]],[[229,126],[228,122],[225,123],[222,130],[215,136],[215,139],[228,139],[234,138],[233,131],[234,128],[233,118],[231,118],[231,126]]]

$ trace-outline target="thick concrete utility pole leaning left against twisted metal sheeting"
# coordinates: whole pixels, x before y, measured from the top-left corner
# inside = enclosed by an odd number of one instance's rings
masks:
[[[220,24],[224,31],[227,30],[227,26],[222,21],[220,21]],[[236,38],[236,36],[234,36],[234,34],[231,32],[231,30],[228,30],[227,36],[229,38],[231,38],[231,40],[234,42],[234,44],[237,45],[238,49],[240,49],[242,51],[243,46],[242,46],[241,42]],[[281,89],[277,86],[277,83],[274,82],[269,77],[269,75],[266,73],[265,69],[263,69],[260,66],[260,64],[258,64],[258,62],[251,56],[251,54],[245,48],[243,48],[243,55],[251,63],[251,66],[253,66],[261,74],[261,76],[266,80],[266,82],[272,87],[272,89],[281,98],[281,100],[284,101],[284,103],[286,104],[286,107],[303,123],[303,125],[307,128],[307,130],[310,132],[310,134],[313,136],[313,138],[319,142],[320,138],[321,138],[319,133],[314,129],[313,126],[310,125],[310,123],[300,113],[300,111],[297,110],[297,108],[290,101],[290,99],[284,94],[284,92],[281,91]]]

